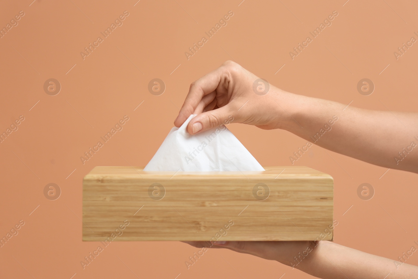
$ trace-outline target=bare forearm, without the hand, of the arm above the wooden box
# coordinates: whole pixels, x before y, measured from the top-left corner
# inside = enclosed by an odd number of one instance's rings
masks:
[[[365,110],[282,90],[276,100],[284,119],[279,128],[340,154],[418,173],[418,113]]]

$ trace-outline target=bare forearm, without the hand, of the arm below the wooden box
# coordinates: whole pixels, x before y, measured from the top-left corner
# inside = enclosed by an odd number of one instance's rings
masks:
[[[397,263],[397,264],[396,264]],[[323,279],[417,278],[418,267],[371,255],[330,241],[319,241],[296,268]]]

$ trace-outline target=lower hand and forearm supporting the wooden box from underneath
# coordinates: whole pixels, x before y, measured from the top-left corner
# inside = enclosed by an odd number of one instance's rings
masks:
[[[371,255],[331,241],[185,242],[203,248],[228,248],[278,261],[323,279],[418,278],[418,267]]]

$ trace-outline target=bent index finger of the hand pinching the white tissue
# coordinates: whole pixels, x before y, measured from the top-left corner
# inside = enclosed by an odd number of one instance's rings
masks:
[[[176,127],[180,127],[189,118],[204,96],[213,92],[218,87],[221,74],[222,66],[190,84],[189,93],[181,106],[176,120],[174,120]]]

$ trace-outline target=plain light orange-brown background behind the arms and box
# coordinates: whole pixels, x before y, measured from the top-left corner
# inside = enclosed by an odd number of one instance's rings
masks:
[[[0,7],[1,27],[20,10],[25,16],[0,39],[0,131],[19,115],[25,120],[0,143],[0,236],[19,220],[25,225],[0,248],[2,278],[312,278],[224,250],[208,251],[188,270],[184,262],[199,249],[179,242],[114,242],[84,270],[80,264],[98,246],[81,240],[84,175],[94,166],[145,166],[172,128],[189,84],[226,60],[289,92],[416,111],[418,46],[398,60],[393,54],[418,31],[413,1],[8,2]],[[123,25],[83,60],[84,47],[125,10]],[[229,10],[227,26],[187,60],[184,52]],[[289,51],[334,10],[332,25],[292,61]],[[49,78],[61,83],[56,96],[43,91]],[[163,95],[148,92],[153,78],[165,82]],[[362,78],[374,82],[372,95],[357,92]],[[123,115],[130,117],[123,130],[83,165],[80,156]],[[289,165],[306,143],[286,131],[229,129],[262,165]],[[333,159],[314,146],[296,164],[334,177],[334,240],[390,259],[415,245],[417,175],[328,152]],[[43,195],[51,182],[62,190],[54,201]],[[375,189],[368,201],[357,196],[364,182]],[[418,264],[418,255],[407,262]]]

